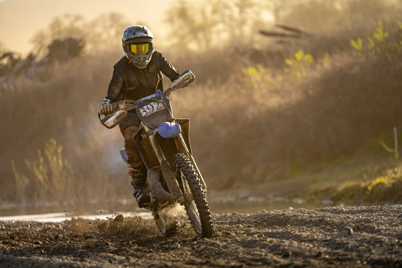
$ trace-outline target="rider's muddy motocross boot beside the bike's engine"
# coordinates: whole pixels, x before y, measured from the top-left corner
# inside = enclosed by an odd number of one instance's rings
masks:
[[[134,187],[132,195],[136,198],[140,208],[151,201],[149,187],[146,182],[146,168],[142,161],[130,163],[127,161],[128,175],[131,176],[131,185]]]

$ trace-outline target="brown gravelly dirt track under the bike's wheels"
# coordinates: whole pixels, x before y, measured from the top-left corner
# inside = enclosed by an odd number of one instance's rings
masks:
[[[286,209],[214,220],[213,239],[197,239],[184,217],[180,234],[168,239],[139,217],[0,222],[0,267],[402,267],[400,207]]]

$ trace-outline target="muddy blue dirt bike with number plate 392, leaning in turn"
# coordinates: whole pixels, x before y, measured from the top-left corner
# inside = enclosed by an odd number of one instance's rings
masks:
[[[113,112],[99,120],[107,128],[116,126],[129,110],[135,109],[141,125],[132,137],[147,168],[151,210],[161,235],[167,237],[178,232],[177,215],[183,205],[197,235],[210,238],[214,226],[206,201],[206,184],[192,155],[189,141],[189,120],[175,119],[167,97],[179,88],[195,81],[191,71],[185,71],[164,92],[138,101],[113,103]],[[120,154],[125,162],[124,149]]]

